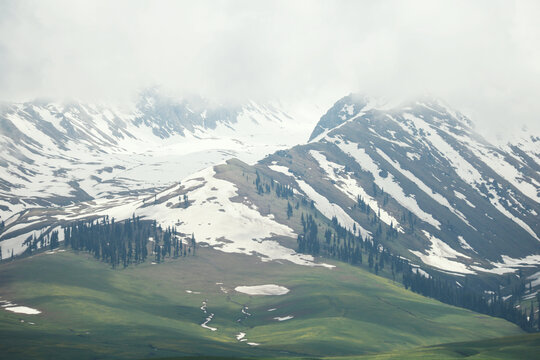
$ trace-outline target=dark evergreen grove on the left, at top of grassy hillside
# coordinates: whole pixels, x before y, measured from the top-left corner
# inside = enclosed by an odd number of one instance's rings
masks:
[[[103,218],[65,227],[64,244],[76,251],[87,251],[116,268],[142,263],[149,255],[157,263],[166,257],[194,255],[195,236],[184,236],[184,242],[180,235],[175,228],[162,229],[156,221],[141,221],[135,216],[122,222]]]

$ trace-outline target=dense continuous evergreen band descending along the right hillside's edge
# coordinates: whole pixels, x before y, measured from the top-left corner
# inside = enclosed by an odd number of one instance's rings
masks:
[[[403,285],[413,292],[446,304],[504,318],[526,331],[534,331],[540,326],[538,323],[540,320],[535,320],[534,310],[530,314],[524,314],[511,301],[504,301],[501,296],[485,296],[467,283],[458,286],[446,279],[431,275],[426,277],[419,271],[414,272],[408,260],[391,254],[378,242],[377,237],[363,239],[362,236],[356,235],[356,229],[353,229],[353,232],[349,231],[341,226],[335,217],[332,218],[331,228],[327,228],[324,232],[322,249],[318,245],[317,224],[311,215],[304,217],[302,214],[301,222],[303,233],[298,236],[298,252],[335,258],[352,265],[363,264],[363,258],[367,257],[367,265],[371,271],[378,274],[389,265],[392,278],[396,280],[396,276],[401,274]],[[524,288],[524,284],[516,285],[514,292],[516,295],[522,295]]]

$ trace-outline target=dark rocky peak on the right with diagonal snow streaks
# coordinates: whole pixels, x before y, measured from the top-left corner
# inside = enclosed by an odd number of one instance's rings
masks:
[[[438,100],[388,106],[349,95],[308,145],[266,163],[327,199],[327,217],[370,236],[378,223],[397,229],[380,240],[402,256],[456,274],[504,273],[540,264],[539,152],[530,134],[488,143]],[[358,198],[380,221],[358,214]]]

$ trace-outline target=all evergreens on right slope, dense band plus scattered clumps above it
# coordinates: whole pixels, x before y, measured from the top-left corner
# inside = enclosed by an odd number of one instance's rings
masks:
[[[271,186],[263,185],[263,182],[257,172],[255,181],[259,194],[269,193],[270,188],[274,189],[276,195],[281,198],[294,198],[294,193],[291,187],[283,186],[279,183],[274,184],[271,181]],[[373,185],[373,194],[375,197],[382,196],[383,203],[388,203],[388,195]],[[293,200],[294,201],[294,200]],[[301,198],[302,204],[307,205],[307,200]],[[298,209],[299,202],[296,208]],[[364,263],[364,258],[367,257],[367,265],[369,269],[376,274],[389,266],[388,272],[392,278],[396,280],[398,275],[401,276],[402,282],[407,289],[424,296],[435,298],[441,302],[470,309],[479,313],[501,317],[509,320],[526,331],[534,331],[540,329],[540,316],[535,320],[534,304],[531,303],[531,311],[528,314],[523,313],[516,308],[511,301],[504,301],[499,295],[490,295],[479,292],[467,283],[463,286],[458,286],[455,282],[434,275],[423,276],[419,271],[414,272],[413,267],[408,260],[391,254],[388,249],[385,249],[380,240],[383,238],[392,240],[398,237],[398,231],[391,223],[390,226],[382,226],[380,220],[380,212],[376,213],[369,204],[361,197],[357,197],[356,206],[368,217],[368,221],[374,227],[373,237],[363,239],[360,234],[357,234],[356,226],[353,229],[343,227],[336,217],[331,219],[331,226],[324,231],[324,241],[319,240],[318,225],[311,215],[301,215],[302,233],[298,235],[298,252],[311,254],[314,256],[322,255],[329,258],[335,258],[353,265],[361,265]],[[311,207],[314,208],[313,201]],[[290,202],[287,203],[287,217],[291,218],[293,213]],[[414,233],[417,223],[416,217],[409,211],[401,217],[402,224],[407,233]],[[523,278],[520,276],[520,278]],[[518,299],[525,293],[524,283],[517,284],[513,287],[512,298]],[[540,295],[539,304],[540,304]]]

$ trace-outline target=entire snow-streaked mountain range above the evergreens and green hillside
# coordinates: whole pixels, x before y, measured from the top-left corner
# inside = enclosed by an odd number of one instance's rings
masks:
[[[227,252],[315,265],[296,253],[302,228],[285,214],[302,199],[319,226],[337,222],[427,271],[459,278],[521,268],[540,278],[539,137],[490,144],[431,98],[388,105],[349,95],[314,129],[308,120],[271,105],[216,107],[152,92],[130,113],[9,105],[0,117],[0,246],[19,254],[28,236],[70,221],[136,214]],[[233,157],[243,162],[212,168]],[[278,184],[290,199],[270,195]]]

